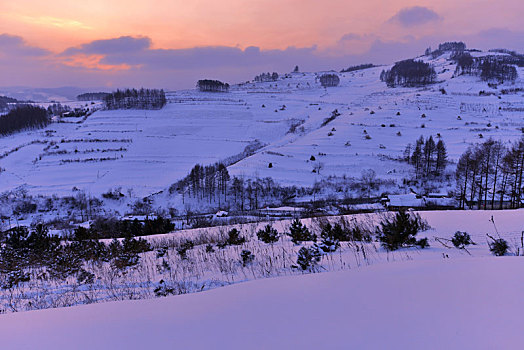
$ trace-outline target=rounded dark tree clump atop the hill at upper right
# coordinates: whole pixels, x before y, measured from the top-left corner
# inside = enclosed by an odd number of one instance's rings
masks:
[[[390,70],[380,73],[380,80],[389,87],[432,84],[436,78],[437,73],[429,63],[413,59],[397,62]]]

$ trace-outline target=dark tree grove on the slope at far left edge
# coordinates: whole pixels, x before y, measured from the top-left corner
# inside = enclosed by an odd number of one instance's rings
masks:
[[[44,128],[51,123],[44,108],[22,105],[0,116],[0,135],[9,135],[20,130]]]

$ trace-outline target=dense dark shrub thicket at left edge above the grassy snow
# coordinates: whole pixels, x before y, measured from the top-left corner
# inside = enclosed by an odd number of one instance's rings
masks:
[[[39,268],[45,268],[46,275],[53,279],[76,277],[80,284],[91,284],[95,275],[84,269],[85,263],[111,262],[113,268],[123,270],[138,264],[138,254],[151,250],[147,241],[129,235],[105,244],[92,239],[83,227],[75,229],[70,238],[61,241],[41,224],[31,230],[19,226],[3,232],[0,273],[5,278],[0,288],[11,289],[30,281],[34,276],[31,270]]]

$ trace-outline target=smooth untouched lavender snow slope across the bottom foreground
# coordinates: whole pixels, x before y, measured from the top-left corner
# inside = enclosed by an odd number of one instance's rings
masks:
[[[399,262],[0,317],[8,349],[518,349],[518,257]]]

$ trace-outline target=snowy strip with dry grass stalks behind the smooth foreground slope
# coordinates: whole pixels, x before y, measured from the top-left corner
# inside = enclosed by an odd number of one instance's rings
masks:
[[[330,220],[332,224],[340,223],[348,230],[358,227],[364,234],[375,237],[376,228],[386,215],[392,213],[303,219],[302,222],[317,235],[320,235],[320,227],[326,223],[325,220]],[[412,262],[415,264],[413,266],[418,266],[418,263],[429,261],[446,264],[465,258],[488,258],[491,253],[486,234],[506,240],[509,255],[523,256],[524,210],[432,211],[421,212],[420,215],[432,228],[420,232],[417,238],[428,238],[429,248],[412,247],[389,252],[376,239],[372,242],[341,242],[337,251],[323,254],[312,271],[358,270],[392,262]],[[272,223],[273,228],[282,234],[278,242],[273,245],[263,243],[257,239],[256,233],[265,224],[234,226],[240,236],[246,239],[245,242],[222,248],[218,243],[224,240],[224,236],[227,237],[232,226],[147,236],[144,239],[149,241],[154,250],[140,254],[136,265],[117,268],[112,260],[85,262],[83,268],[93,275],[91,282],[82,282],[75,274],[56,279],[48,276],[46,270],[34,268],[28,271],[29,281],[0,290],[0,312],[150,299],[159,295],[207,291],[250,280],[302,275],[304,272],[294,266],[297,264],[298,252],[302,247],[311,247],[313,243],[293,244],[285,235],[290,225],[285,220]],[[467,250],[454,248],[450,239],[459,230],[468,232],[476,245],[468,246]],[[188,240],[195,246],[182,256],[179,248]],[[104,242],[109,244],[110,240]],[[254,255],[246,264],[242,263],[241,258],[244,250]],[[6,276],[0,277],[5,280]]]

